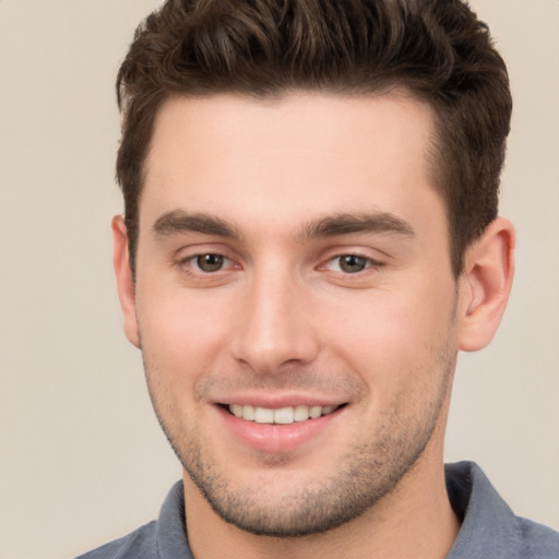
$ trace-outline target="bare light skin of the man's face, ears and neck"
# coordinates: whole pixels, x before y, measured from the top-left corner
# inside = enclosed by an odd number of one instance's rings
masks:
[[[513,230],[493,222],[453,277],[432,122],[403,93],[160,109],[135,285],[120,217],[115,266],[126,333],[185,468],[197,559],[452,546],[442,448],[456,354],[495,334]],[[277,426],[253,444],[228,403],[342,407],[309,437]]]

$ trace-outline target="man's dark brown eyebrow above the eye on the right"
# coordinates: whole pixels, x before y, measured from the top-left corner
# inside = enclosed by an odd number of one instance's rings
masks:
[[[391,213],[379,212],[336,214],[310,222],[302,227],[298,239],[305,241],[353,233],[389,233],[415,237],[415,230],[407,222]]]

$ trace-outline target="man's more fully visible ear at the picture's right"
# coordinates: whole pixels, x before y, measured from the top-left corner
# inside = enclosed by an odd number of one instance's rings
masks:
[[[460,348],[481,349],[493,338],[509,300],[514,275],[514,227],[491,222],[466,252],[460,280]]]

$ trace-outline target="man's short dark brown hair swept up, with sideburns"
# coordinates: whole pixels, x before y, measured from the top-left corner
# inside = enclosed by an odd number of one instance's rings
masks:
[[[143,167],[177,95],[368,94],[403,86],[433,109],[433,182],[451,263],[497,216],[512,99],[485,23],[462,0],[168,0],[136,29],[117,79],[117,178],[134,271]]]

